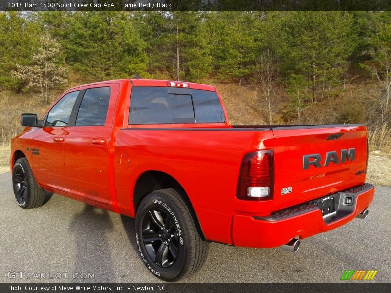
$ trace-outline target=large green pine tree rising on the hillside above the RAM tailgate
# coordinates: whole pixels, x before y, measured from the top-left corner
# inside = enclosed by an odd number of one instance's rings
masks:
[[[341,83],[348,57],[357,45],[352,15],[335,11],[289,12],[282,21],[282,44],[275,47],[285,73],[310,82],[312,102]]]

